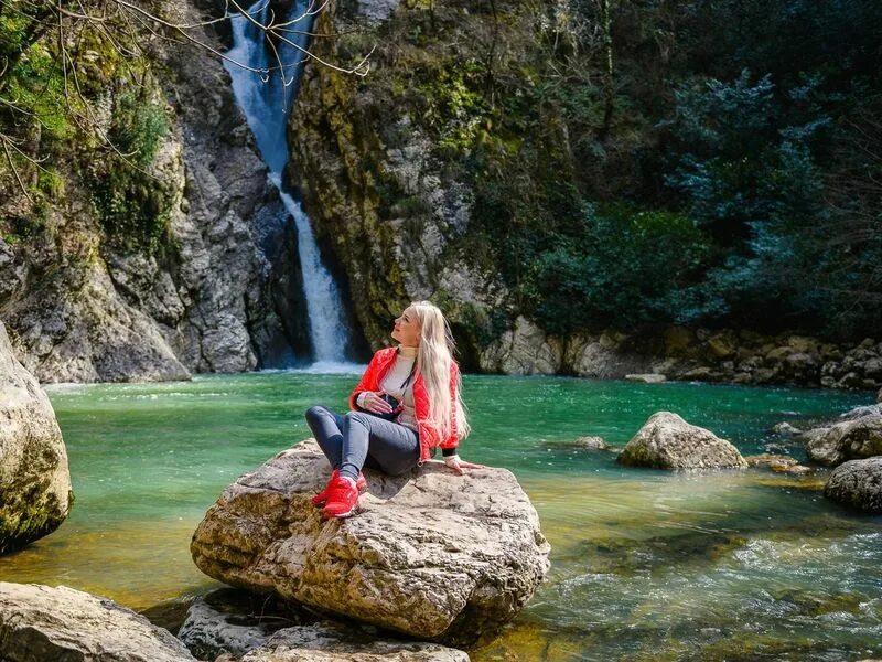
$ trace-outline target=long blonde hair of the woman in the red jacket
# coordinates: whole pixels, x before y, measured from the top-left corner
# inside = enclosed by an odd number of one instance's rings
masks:
[[[462,402],[462,378],[456,372],[454,395],[450,394],[450,367],[453,363],[453,334],[444,314],[430,301],[415,301],[410,307],[417,312],[420,324],[420,345],[417,352],[417,371],[422,375],[429,396],[428,424],[445,439],[455,429],[456,438],[464,439],[471,426]]]

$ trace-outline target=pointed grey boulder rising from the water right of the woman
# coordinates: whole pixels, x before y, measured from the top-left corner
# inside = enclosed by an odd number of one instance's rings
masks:
[[[747,466],[725,439],[704,428],[689,425],[677,414],[653,414],[627,442],[619,461],[657,469],[722,469]]]

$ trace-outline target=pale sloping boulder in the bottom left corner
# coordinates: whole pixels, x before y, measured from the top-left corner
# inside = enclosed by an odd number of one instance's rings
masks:
[[[191,662],[184,644],[143,616],[60,586],[0,581],[4,662]]]

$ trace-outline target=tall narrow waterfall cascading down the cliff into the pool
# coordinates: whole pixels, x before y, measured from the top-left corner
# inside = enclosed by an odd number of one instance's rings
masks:
[[[278,58],[271,52],[263,31],[249,19],[250,17],[266,25],[271,11],[269,0],[258,0],[248,8],[247,17],[234,14],[230,18],[233,47],[227,56],[232,62],[225,61],[224,66],[233,79],[233,92],[255,135],[260,154],[270,169],[269,180],[279,190],[286,210],[294,220],[310,340],[315,353],[312,370],[349,370],[351,364],[344,363],[349,339],[340,292],[333,277],[322,264],[309,217],[282,184],[282,172],[289,159],[286,138],[288,116],[297,92],[303,53],[286,43],[276,44]],[[303,18],[291,26],[287,36],[301,49],[305,49],[312,17],[308,14],[305,4],[294,2],[287,20],[299,17]],[[261,77],[260,74],[236,64],[240,63],[252,70],[268,70],[277,66],[279,61],[284,65],[283,76],[273,70],[268,77]]]

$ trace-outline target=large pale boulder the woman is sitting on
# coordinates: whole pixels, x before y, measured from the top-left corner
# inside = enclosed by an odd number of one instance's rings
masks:
[[[196,565],[233,586],[454,644],[510,620],[548,569],[536,511],[504,469],[368,473],[358,514],[323,522],[310,496],[329,473],[310,440],[239,478],[193,535]]]

